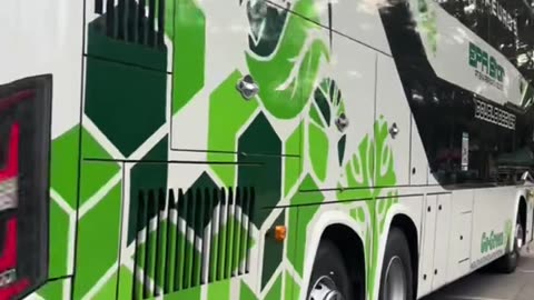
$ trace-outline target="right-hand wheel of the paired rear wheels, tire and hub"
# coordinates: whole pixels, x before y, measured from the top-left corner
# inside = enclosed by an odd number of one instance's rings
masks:
[[[382,264],[379,300],[413,299],[412,259],[404,232],[392,228]]]

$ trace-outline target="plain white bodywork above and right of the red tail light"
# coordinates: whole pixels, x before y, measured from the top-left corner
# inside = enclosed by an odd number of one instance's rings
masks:
[[[52,74],[55,140],[80,122],[82,4],[82,1],[61,0],[2,1],[0,84]],[[67,198],[70,192],[62,196]],[[70,197],[66,200],[75,201]],[[58,271],[56,276],[69,272]]]

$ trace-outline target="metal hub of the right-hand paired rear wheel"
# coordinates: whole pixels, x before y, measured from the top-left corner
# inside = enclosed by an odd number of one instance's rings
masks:
[[[403,261],[399,257],[393,257],[386,269],[384,282],[384,296],[387,300],[406,300],[407,280]]]

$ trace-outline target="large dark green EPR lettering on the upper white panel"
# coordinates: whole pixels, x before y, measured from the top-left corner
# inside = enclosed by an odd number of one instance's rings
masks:
[[[503,80],[505,76],[504,68],[498,64],[494,57],[482,50],[473,42],[469,42],[468,60],[469,66],[475,69],[476,78],[496,87],[500,90],[503,89]]]

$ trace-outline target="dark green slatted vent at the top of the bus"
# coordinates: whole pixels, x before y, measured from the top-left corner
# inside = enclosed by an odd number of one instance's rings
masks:
[[[150,48],[164,47],[166,0],[95,0],[106,36]]]

